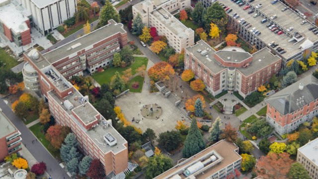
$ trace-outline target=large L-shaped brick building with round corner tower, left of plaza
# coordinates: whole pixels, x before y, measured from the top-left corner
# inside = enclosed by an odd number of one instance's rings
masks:
[[[47,54],[42,55],[36,49],[25,52],[27,65],[23,77],[28,81],[26,88],[41,91],[56,122],[71,128],[85,155],[99,159],[107,176],[125,176],[125,172],[136,167],[128,163],[127,141],[112,127],[111,120],[89,103],[88,96],[82,96],[67,81],[94,64],[99,63],[98,67],[107,64],[108,58],[127,44],[123,25],[109,22]]]

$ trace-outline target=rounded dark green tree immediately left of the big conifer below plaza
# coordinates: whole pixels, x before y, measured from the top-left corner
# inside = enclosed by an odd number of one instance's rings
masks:
[[[171,130],[159,134],[158,145],[167,152],[177,149],[181,144],[181,134]]]

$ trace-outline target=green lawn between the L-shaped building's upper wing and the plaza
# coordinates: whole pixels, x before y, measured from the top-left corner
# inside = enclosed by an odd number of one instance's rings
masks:
[[[138,67],[141,67],[142,65],[145,65],[147,67],[148,59],[145,57],[135,57],[135,62],[129,66],[129,67],[112,67],[107,70],[104,70],[100,73],[95,73],[92,77],[94,80],[96,80],[99,85],[107,84],[110,82],[111,77],[115,74],[116,71],[119,73],[122,73],[123,71],[127,70],[128,68],[132,69],[132,74],[134,75],[136,72],[135,70]]]

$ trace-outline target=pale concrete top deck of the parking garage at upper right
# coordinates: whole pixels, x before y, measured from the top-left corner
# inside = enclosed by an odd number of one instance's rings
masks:
[[[306,19],[290,8],[282,11],[281,9],[283,7],[286,7],[286,5],[283,4],[281,1],[278,1],[276,4],[271,4],[272,0],[255,0],[249,3],[251,7],[246,10],[243,10],[243,7],[246,4],[239,6],[231,0],[222,0],[220,2],[233,9],[233,11],[229,13],[230,16],[233,16],[234,13],[238,13],[239,18],[236,20],[244,18],[247,23],[250,23],[252,26],[249,27],[248,30],[256,27],[256,29],[261,32],[258,38],[265,42],[265,44],[269,44],[270,42],[275,41],[281,48],[285,49],[286,53],[281,55],[285,59],[288,59],[301,52],[302,50],[299,47],[305,41],[305,39],[310,39],[312,42],[318,41],[318,35],[315,35],[311,30],[308,29],[312,26],[312,24],[307,22],[302,25],[301,22]],[[259,3],[262,4],[262,7],[256,8],[255,6]],[[250,9],[255,9],[255,12],[248,14],[247,12]],[[256,10],[262,15],[253,17],[254,14],[257,13]],[[274,14],[277,15],[277,18],[274,20],[270,19],[270,17]],[[267,16],[267,22],[262,24],[261,20],[265,18],[263,15]],[[266,27],[266,24],[269,23],[269,19],[276,25],[278,25],[280,29],[285,30],[285,33],[282,35],[277,35],[270,29],[268,29]],[[294,32],[300,32],[303,35],[304,39],[298,43],[296,43],[296,40],[289,42],[289,40],[292,39],[292,36],[286,34],[289,27],[294,27],[294,30],[289,32],[291,35],[293,35]]]

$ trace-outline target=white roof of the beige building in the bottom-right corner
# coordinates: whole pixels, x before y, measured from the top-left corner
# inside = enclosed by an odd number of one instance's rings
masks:
[[[299,148],[298,152],[301,152],[304,156],[316,164],[316,166],[318,166],[318,138]]]

